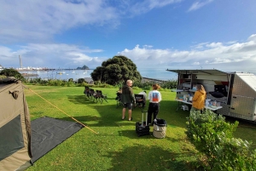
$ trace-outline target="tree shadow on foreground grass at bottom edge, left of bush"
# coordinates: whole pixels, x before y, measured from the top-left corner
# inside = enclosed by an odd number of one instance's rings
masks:
[[[190,170],[189,162],[195,156],[191,152],[166,151],[156,145],[132,145],[123,151],[109,152],[112,158],[108,170]],[[142,168],[143,167],[143,168]]]

